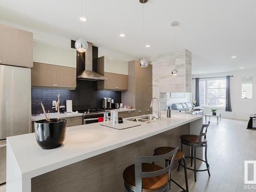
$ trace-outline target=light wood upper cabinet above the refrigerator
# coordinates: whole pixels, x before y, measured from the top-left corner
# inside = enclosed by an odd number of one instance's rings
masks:
[[[0,63],[33,67],[33,33],[0,25]]]

